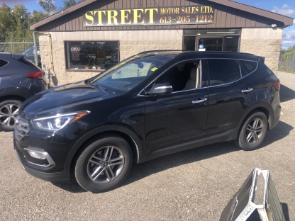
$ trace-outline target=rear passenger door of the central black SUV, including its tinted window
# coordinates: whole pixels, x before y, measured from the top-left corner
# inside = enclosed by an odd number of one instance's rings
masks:
[[[209,98],[206,145],[211,141],[216,142],[216,139],[230,140],[233,130],[239,129],[240,120],[256,99],[255,82],[240,61],[208,59],[207,64]],[[214,137],[214,140],[208,137]]]

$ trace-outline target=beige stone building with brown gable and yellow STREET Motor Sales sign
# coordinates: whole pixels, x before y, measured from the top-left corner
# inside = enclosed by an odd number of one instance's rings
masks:
[[[147,50],[247,52],[277,73],[293,18],[230,0],[85,0],[38,21],[50,85],[93,77]]]

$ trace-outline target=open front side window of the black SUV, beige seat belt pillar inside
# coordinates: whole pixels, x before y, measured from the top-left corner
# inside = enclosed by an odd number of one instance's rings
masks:
[[[155,84],[167,83],[173,92],[187,91],[201,87],[201,62],[184,62],[169,69]]]

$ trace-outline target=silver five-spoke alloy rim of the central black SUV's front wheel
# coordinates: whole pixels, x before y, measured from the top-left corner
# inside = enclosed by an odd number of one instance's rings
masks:
[[[124,155],[118,147],[102,147],[89,158],[87,174],[95,183],[109,183],[116,179],[124,166]]]

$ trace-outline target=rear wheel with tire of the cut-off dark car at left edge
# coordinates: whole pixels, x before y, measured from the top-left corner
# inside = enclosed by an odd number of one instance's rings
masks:
[[[0,103],[0,130],[12,131],[16,124],[16,115],[22,102],[18,100],[6,100]]]

